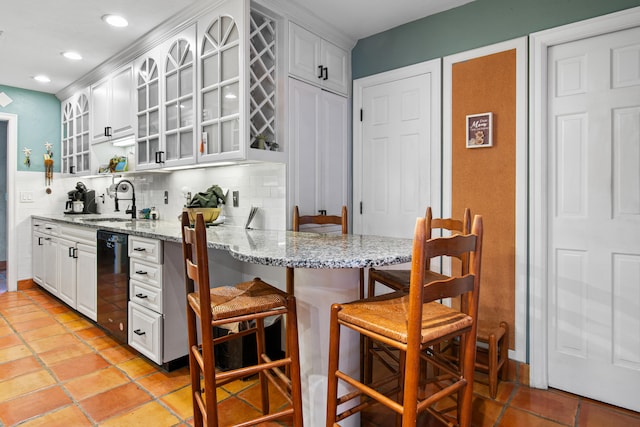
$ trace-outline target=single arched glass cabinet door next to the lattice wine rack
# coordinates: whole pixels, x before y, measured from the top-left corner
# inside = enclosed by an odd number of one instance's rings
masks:
[[[245,157],[248,16],[248,1],[229,1],[198,21],[199,161]]]

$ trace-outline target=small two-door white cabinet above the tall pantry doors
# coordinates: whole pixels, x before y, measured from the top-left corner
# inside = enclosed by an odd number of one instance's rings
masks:
[[[289,73],[324,89],[349,93],[349,53],[289,23]]]

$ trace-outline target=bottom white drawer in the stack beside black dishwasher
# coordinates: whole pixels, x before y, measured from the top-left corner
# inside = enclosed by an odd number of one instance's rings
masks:
[[[162,314],[129,301],[129,345],[162,364]]]

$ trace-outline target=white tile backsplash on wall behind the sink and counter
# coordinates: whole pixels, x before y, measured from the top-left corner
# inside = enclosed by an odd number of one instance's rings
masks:
[[[15,177],[16,226],[19,236],[31,235],[31,215],[61,214],[65,209],[67,192],[73,190],[78,181],[95,190],[98,212],[109,216],[126,216],[129,200],[119,203],[120,212],[114,212],[115,203],[107,194],[107,188],[121,178],[104,177],[62,177],[55,174],[50,193],[45,191],[44,176],[33,172],[18,171]],[[209,167],[173,172],[149,172],[126,175],[133,182],[136,191],[136,207],[155,207],[161,220],[178,221],[178,216],[186,203],[185,191],[192,195],[205,191],[213,184],[228,189],[226,204],[221,215],[225,224],[244,226],[252,206],[258,213],[251,226],[257,229],[285,230],[286,215],[286,165],[280,163],[251,163],[235,166]],[[168,194],[165,204],[165,191]],[[238,207],[233,206],[232,192],[239,194]],[[29,193],[33,202],[21,203],[21,193]],[[104,197],[102,197],[104,195]],[[128,197],[127,195],[124,195]],[[31,277],[31,239],[18,239],[18,253],[24,262],[18,266],[19,279]]]

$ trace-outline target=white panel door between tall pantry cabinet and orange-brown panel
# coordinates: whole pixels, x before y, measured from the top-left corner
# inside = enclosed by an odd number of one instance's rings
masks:
[[[354,198],[354,218],[361,207],[356,233],[410,238],[427,206],[439,213],[440,140],[433,137],[433,127],[440,124],[432,110],[436,85],[439,78],[427,72],[363,88],[362,151],[354,152],[360,158],[354,171],[362,174],[361,199]]]

